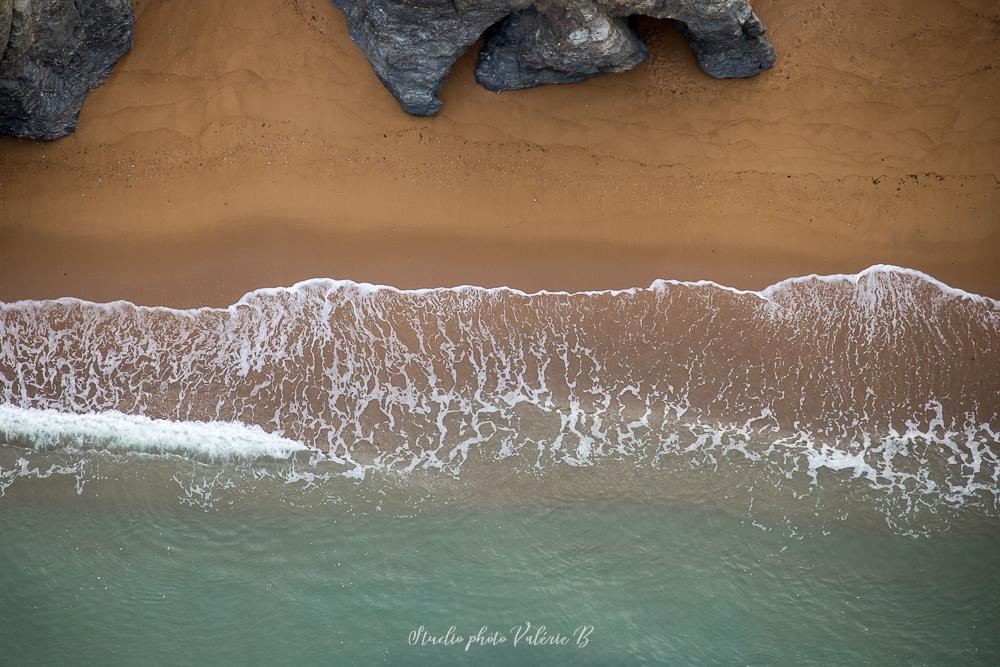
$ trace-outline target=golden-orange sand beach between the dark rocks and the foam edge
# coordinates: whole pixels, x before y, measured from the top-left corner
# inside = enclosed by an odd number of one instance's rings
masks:
[[[407,116],[327,0],[137,0],[76,135],[0,141],[0,300],[176,306],[330,276],[759,288],[874,263],[1000,297],[1000,3],[757,0],[780,60]]]

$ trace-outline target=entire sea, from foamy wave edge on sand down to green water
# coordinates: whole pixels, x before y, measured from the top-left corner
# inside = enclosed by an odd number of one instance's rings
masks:
[[[1000,304],[0,306],[5,664],[1000,662]]]

